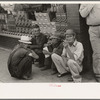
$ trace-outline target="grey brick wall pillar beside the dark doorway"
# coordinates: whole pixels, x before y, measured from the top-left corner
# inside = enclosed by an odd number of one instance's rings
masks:
[[[67,23],[70,28],[76,31],[77,39],[81,41],[78,9],[79,9],[79,4],[67,4],[66,5]]]

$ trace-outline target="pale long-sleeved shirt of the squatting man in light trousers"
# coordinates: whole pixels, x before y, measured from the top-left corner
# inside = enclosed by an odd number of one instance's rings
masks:
[[[68,45],[68,48],[72,52],[75,60],[81,63],[83,61],[83,58],[84,58],[84,49],[83,49],[82,43],[75,40],[75,42],[73,43],[72,46]],[[66,52],[65,48],[63,48],[62,55],[66,56],[70,59],[70,57],[69,57],[68,53]]]

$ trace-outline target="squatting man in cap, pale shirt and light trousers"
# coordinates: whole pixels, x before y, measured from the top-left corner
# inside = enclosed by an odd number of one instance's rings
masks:
[[[59,56],[54,53],[52,55],[52,60],[60,73],[58,74],[58,77],[71,72],[73,81],[81,82],[82,78],[80,72],[82,71],[82,61],[84,57],[83,45],[76,40],[76,33],[72,29],[68,29],[65,36],[62,55]]]

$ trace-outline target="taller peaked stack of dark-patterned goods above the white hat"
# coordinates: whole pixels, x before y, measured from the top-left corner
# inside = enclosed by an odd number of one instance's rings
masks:
[[[31,34],[32,20],[28,19],[27,13],[24,11],[18,11],[15,18],[16,32],[24,35]]]

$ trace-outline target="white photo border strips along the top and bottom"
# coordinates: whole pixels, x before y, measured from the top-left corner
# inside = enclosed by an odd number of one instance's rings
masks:
[[[0,3],[100,3],[99,1],[0,1]],[[60,85],[60,87],[58,87]],[[0,83],[0,99],[100,99],[100,83]]]

